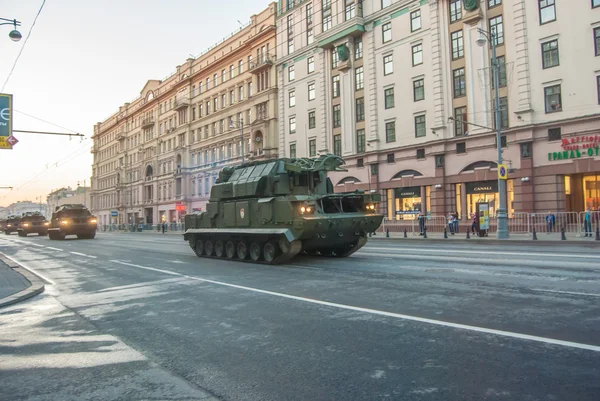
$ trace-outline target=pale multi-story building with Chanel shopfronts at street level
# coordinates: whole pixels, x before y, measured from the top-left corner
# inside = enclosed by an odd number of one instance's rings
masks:
[[[344,157],[336,190],[380,191],[389,218],[494,213],[496,89],[479,29],[497,50],[509,215],[598,207],[598,0],[280,2],[280,154]]]

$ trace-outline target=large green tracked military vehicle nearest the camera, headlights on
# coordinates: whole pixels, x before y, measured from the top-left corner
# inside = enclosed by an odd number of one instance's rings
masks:
[[[328,171],[341,157],[276,159],[225,167],[206,211],[185,216],[196,255],[278,264],[300,252],[346,257],[383,220],[379,194],[334,193]]]

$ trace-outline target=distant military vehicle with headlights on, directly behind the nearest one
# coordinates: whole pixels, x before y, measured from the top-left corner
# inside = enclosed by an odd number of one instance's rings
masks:
[[[67,235],[77,235],[79,239],[93,239],[96,236],[97,220],[85,205],[68,204],[57,206],[48,235],[51,240],[63,240]]]

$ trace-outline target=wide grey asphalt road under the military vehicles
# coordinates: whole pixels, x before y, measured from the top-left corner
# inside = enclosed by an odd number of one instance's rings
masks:
[[[113,399],[98,394],[121,370],[131,386],[153,383],[155,399],[600,399],[600,248],[372,240],[347,259],[270,267],[199,259],[179,236],[115,233],[1,236],[0,251],[52,282],[0,310],[0,399],[69,399],[43,390],[66,376],[54,337],[25,318],[40,311],[66,316],[54,336],[104,336],[109,355],[126,353],[85,376],[89,399]],[[88,368],[93,351],[64,348],[69,372]],[[28,364],[54,373],[19,380]]]

